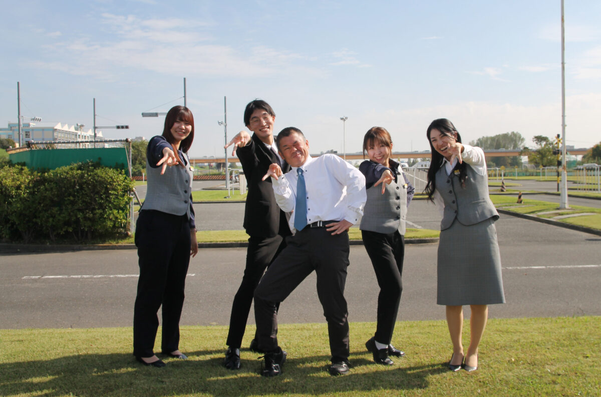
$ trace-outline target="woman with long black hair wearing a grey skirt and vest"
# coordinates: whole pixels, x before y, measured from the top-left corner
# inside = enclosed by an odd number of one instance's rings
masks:
[[[478,344],[488,318],[488,305],[505,303],[501,257],[489,198],[484,151],[463,145],[453,123],[436,119],[427,130],[432,149],[426,193],[441,209],[438,246],[439,305],[447,306],[453,342],[451,371],[478,369]],[[463,352],[463,305],[469,305],[470,341]]]

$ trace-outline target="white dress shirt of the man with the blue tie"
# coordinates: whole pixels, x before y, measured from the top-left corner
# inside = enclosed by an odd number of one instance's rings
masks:
[[[356,167],[333,154],[323,154],[307,161],[300,167],[307,186],[307,224],[317,221],[341,221],[346,219],[358,224],[363,215],[365,177]],[[284,212],[292,211],[290,230],[294,228],[294,206],[296,204],[297,167],[272,178],[275,201]]]

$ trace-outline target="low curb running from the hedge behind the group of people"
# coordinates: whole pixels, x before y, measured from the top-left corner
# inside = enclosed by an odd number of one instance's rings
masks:
[[[406,239],[405,244],[437,243],[438,237],[430,239]],[[362,240],[350,240],[350,245],[363,245]],[[246,248],[248,242],[198,243],[198,248]],[[101,249],[137,249],[135,244],[94,244],[94,245],[44,245],[0,243],[0,254],[29,254],[35,252],[99,251]]]

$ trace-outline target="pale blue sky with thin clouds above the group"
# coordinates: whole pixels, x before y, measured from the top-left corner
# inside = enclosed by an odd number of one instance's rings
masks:
[[[374,125],[394,151],[426,151],[448,118],[463,142],[561,133],[560,0],[0,0],[0,126],[129,125],[109,139],[160,135],[186,103],[191,157],[224,155],[255,98],[275,132],[301,129],[311,153],[361,152]],[[566,142],[601,141],[601,2],[566,0]],[[346,122],[341,117],[346,116]],[[27,120],[25,120],[27,122]],[[231,152],[228,152],[230,155]]]

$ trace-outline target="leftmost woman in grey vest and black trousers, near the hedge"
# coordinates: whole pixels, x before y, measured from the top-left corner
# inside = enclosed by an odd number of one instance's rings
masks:
[[[146,149],[148,185],[136,223],[138,294],[133,309],[133,355],[144,365],[165,366],[154,354],[162,305],[161,351],[186,359],[179,350],[180,315],[190,256],[197,254],[192,167],[186,154],[194,140],[194,118],[187,107],[174,106],[162,136]]]

